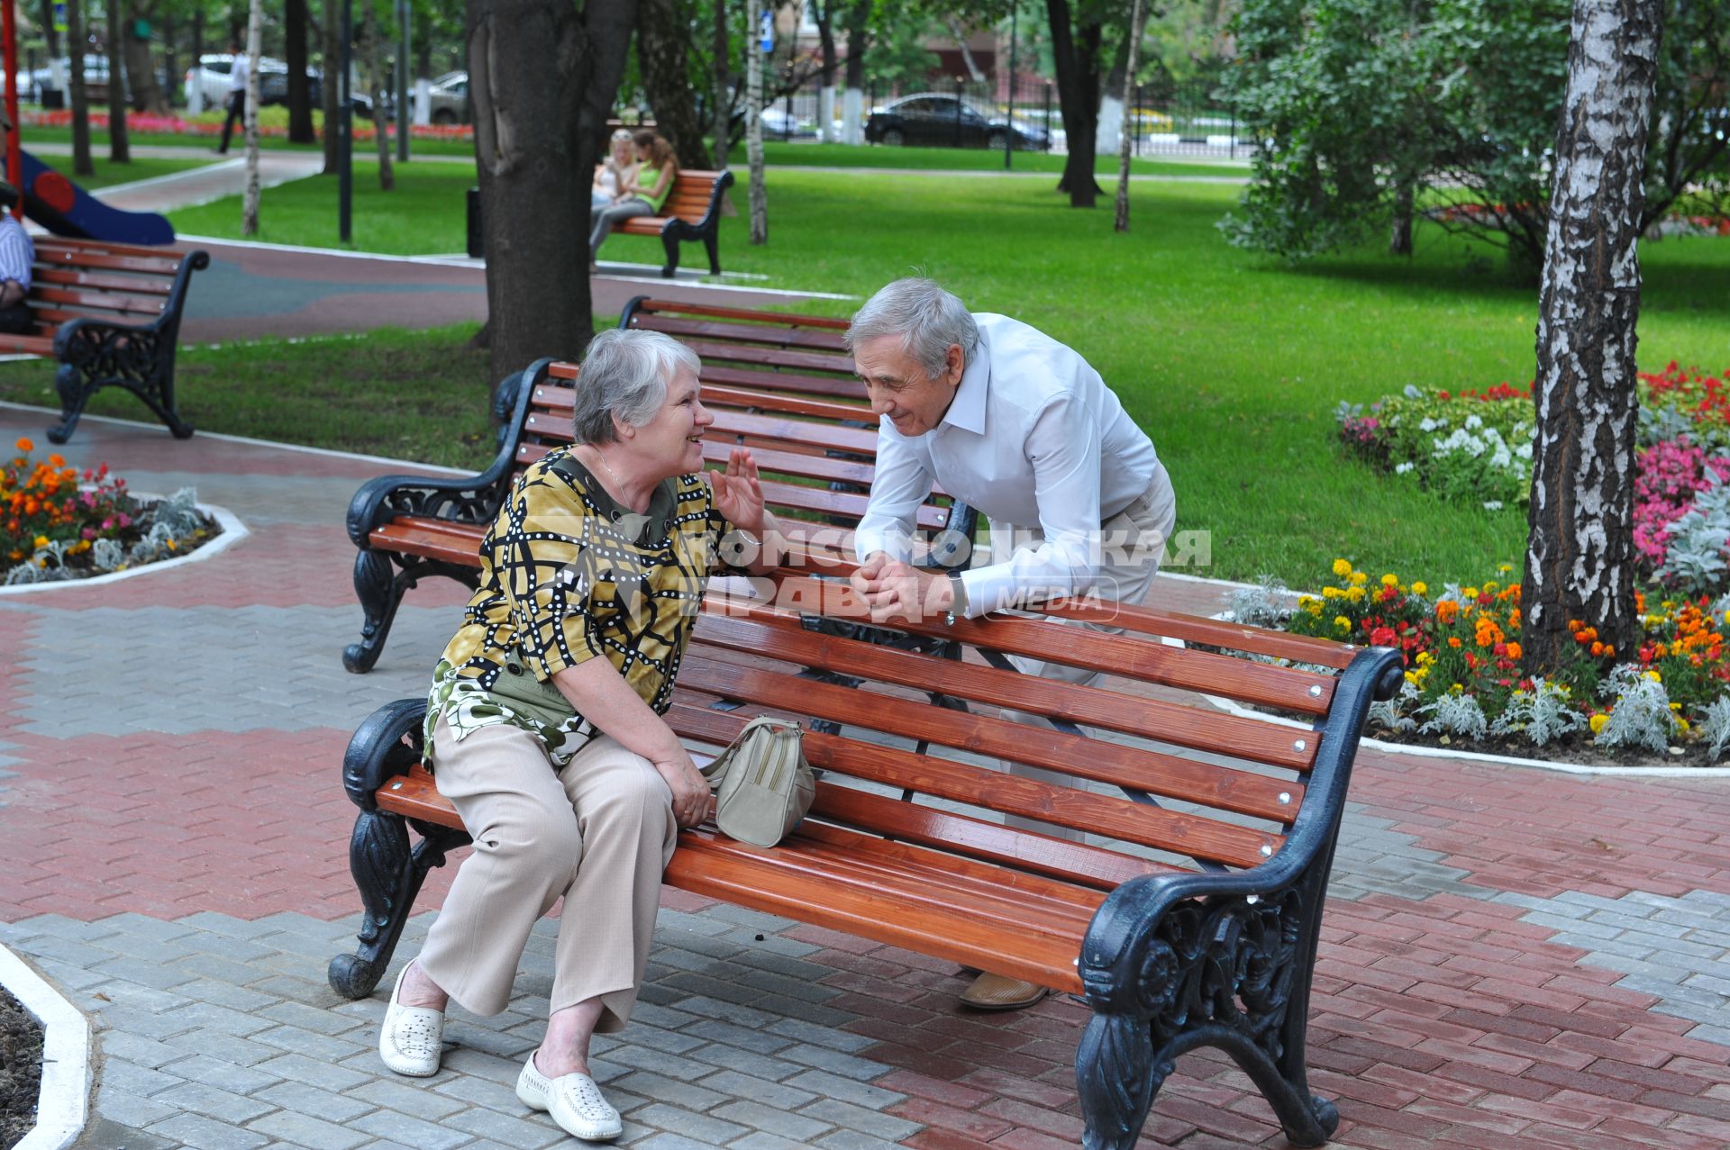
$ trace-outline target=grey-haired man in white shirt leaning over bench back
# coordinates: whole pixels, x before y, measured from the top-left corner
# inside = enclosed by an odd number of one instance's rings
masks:
[[[1019,320],[969,313],[926,278],[896,280],[872,296],[846,339],[881,418],[877,477],[855,534],[853,576],[874,621],[976,617],[1080,595],[1123,604],[1147,597],[1176,522],[1176,496],[1147,432],[1086,360]],[[912,565],[915,514],[934,482],[990,519],[990,564],[952,574]],[[1024,674],[1069,683],[1099,676],[1012,661]],[[1031,982],[981,974],[962,1001],[1012,1010],[1045,994]]]

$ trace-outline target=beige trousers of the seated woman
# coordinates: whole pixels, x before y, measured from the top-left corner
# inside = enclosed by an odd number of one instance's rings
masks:
[[[678,837],[659,771],[597,735],[554,773],[524,730],[500,723],[458,742],[443,719],[432,766],[474,853],[427,932],[420,968],[465,1010],[495,1015],[510,1001],[529,930],[564,898],[550,1013],[599,998],[595,1029],[621,1029]]]

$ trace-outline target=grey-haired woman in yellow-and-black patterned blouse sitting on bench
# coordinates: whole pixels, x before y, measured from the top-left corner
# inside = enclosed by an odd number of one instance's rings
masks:
[[[564,898],[547,1036],[517,1096],[583,1140],[616,1138],[588,1076],[595,1031],[630,1019],[661,873],[709,789],[661,718],[730,533],[780,552],[751,453],[702,474],[697,356],[657,332],[590,344],[571,448],[517,481],[481,543],[481,586],[432,676],[427,756],[474,837],[379,1053],[438,1072],[445,1006],[505,1008],[535,920]],[[728,569],[732,571],[732,569]]]

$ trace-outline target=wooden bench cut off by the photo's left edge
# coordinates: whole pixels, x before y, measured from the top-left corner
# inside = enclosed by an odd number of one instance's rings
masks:
[[[24,297],[36,330],[0,334],[0,353],[61,361],[54,375],[61,422],[48,429],[48,439],[66,443],[102,387],[125,387],[144,399],[176,439],[192,434],[192,424],[175,410],[175,351],[187,284],[209,261],[202,251],[36,237]]]

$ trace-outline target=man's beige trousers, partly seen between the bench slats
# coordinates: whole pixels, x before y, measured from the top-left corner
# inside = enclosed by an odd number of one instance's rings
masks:
[[[1085,593],[1093,593],[1119,604],[1140,605],[1145,602],[1149,590],[1152,590],[1154,576],[1159,574],[1159,559],[1164,553],[1166,543],[1171,540],[1171,529],[1176,526],[1176,496],[1173,495],[1171,482],[1166,477],[1164,463],[1161,463],[1154,472],[1152,482],[1147,484],[1147,491],[1138,495],[1128,507],[1100,526],[1102,550],[1099,578],[1093,581],[1090,591]],[[1000,527],[995,522],[991,524],[993,557],[1009,555],[1017,546],[1038,546],[1043,540],[1045,536],[1038,527],[1017,527],[1012,524],[1003,524]],[[1054,619],[1054,623],[1112,635],[1123,629],[1099,623],[1081,623],[1078,619]],[[1029,659],[1026,655],[1009,655],[1009,661],[1022,674],[1038,674],[1040,678],[1059,680],[1064,683],[1093,683],[1102,674],[1102,671],[1095,668],[1073,668],[1067,662],[1050,662],[1043,659]],[[1028,714],[1026,711],[1003,711],[1003,718],[1017,723],[1050,726],[1050,721],[1043,716]],[[1014,763],[1010,759],[1000,759],[1000,763],[1003,764],[1003,770],[1021,778],[1036,778],[1060,787],[1069,787],[1076,782],[1073,776],[1060,771],[1048,771],[1038,766]],[[1003,821],[1019,830],[1038,830],[1071,842],[1081,840],[1081,832],[1071,830],[1069,827],[1054,827],[1050,823],[1021,818],[1019,815],[1009,815]]]

